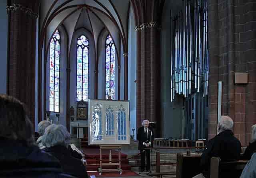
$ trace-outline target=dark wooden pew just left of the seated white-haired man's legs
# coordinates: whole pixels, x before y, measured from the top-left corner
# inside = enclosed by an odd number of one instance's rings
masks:
[[[192,178],[201,173],[201,155],[185,156],[177,153],[176,178]]]

